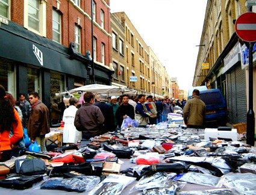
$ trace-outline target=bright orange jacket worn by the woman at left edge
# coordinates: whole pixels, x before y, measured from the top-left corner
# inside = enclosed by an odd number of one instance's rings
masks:
[[[14,118],[16,122],[11,124],[11,127],[13,128],[13,136],[9,138],[10,130],[4,130],[0,134],[0,151],[11,149],[11,145],[18,142],[23,137],[22,123],[16,109],[14,109]]]

